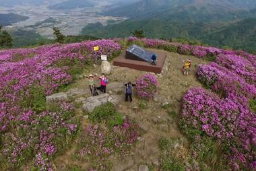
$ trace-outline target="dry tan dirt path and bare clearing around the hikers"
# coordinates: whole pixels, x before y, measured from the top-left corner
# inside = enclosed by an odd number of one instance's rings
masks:
[[[164,52],[164,50],[152,50],[157,52]],[[197,81],[195,71],[199,64],[206,64],[207,61],[198,59],[196,57],[189,57],[192,60],[191,72],[188,76],[183,75],[181,67],[183,66],[183,60],[188,59],[187,56],[179,55],[176,53],[166,53],[167,59],[164,66],[164,73],[158,75],[158,95],[155,100],[148,102],[146,108],[140,108],[139,104],[141,100],[138,100],[133,96],[134,102],[125,103],[124,100],[119,103],[117,110],[123,113],[129,118],[134,118],[141,126],[143,133],[139,137],[133,153],[131,156],[123,158],[112,156],[110,161],[113,162],[113,171],[121,170],[138,170],[140,164],[146,164],[148,166],[158,166],[160,149],[158,147],[158,141],[161,137],[167,137],[170,139],[179,139],[182,137],[178,127],[177,121],[174,117],[170,116],[164,108],[161,107],[161,102],[168,102],[172,106],[172,110],[179,116],[181,114],[181,105],[183,95],[191,87],[201,86]],[[100,67],[92,69],[86,74],[98,73],[100,74]],[[146,72],[136,71],[133,69],[114,67],[111,75],[108,76],[109,85],[107,91],[113,92],[113,94],[119,94],[124,96],[122,92],[122,85],[124,75],[127,75],[126,80],[135,82],[135,78],[139,75],[143,75]],[[73,84],[73,88],[88,89],[87,80],[81,79]],[[115,91],[118,90],[118,91]],[[123,97],[124,98],[124,97]],[[87,121],[82,118],[82,125]],[[57,159],[58,164],[68,164],[71,162],[71,154],[73,149],[70,149],[63,156]],[[81,165],[83,168],[86,164]]]

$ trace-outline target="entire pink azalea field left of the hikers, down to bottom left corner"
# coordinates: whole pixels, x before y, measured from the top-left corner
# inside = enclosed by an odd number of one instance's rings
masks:
[[[57,112],[47,111],[45,96],[82,72],[88,60],[95,58],[94,46],[100,46],[98,57],[111,57],[121,50],[113,40],[96,40],[0,51],[2,170],[19,168],[34,157],[40,170],[51,169],[49,161],[63,149],[58,145],[76,132],[77,123],[71,121],[69,104]]]

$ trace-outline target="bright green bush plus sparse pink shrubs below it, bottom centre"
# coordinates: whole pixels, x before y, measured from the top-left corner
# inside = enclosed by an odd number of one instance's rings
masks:
[[[77,160],[90,162],[90,170],[110,170],[108,157],[129,154],[139,137],[139,125],[115,110],[111,103],[102,104],[92,111],[94,125],[88,125],[77,140]]]

